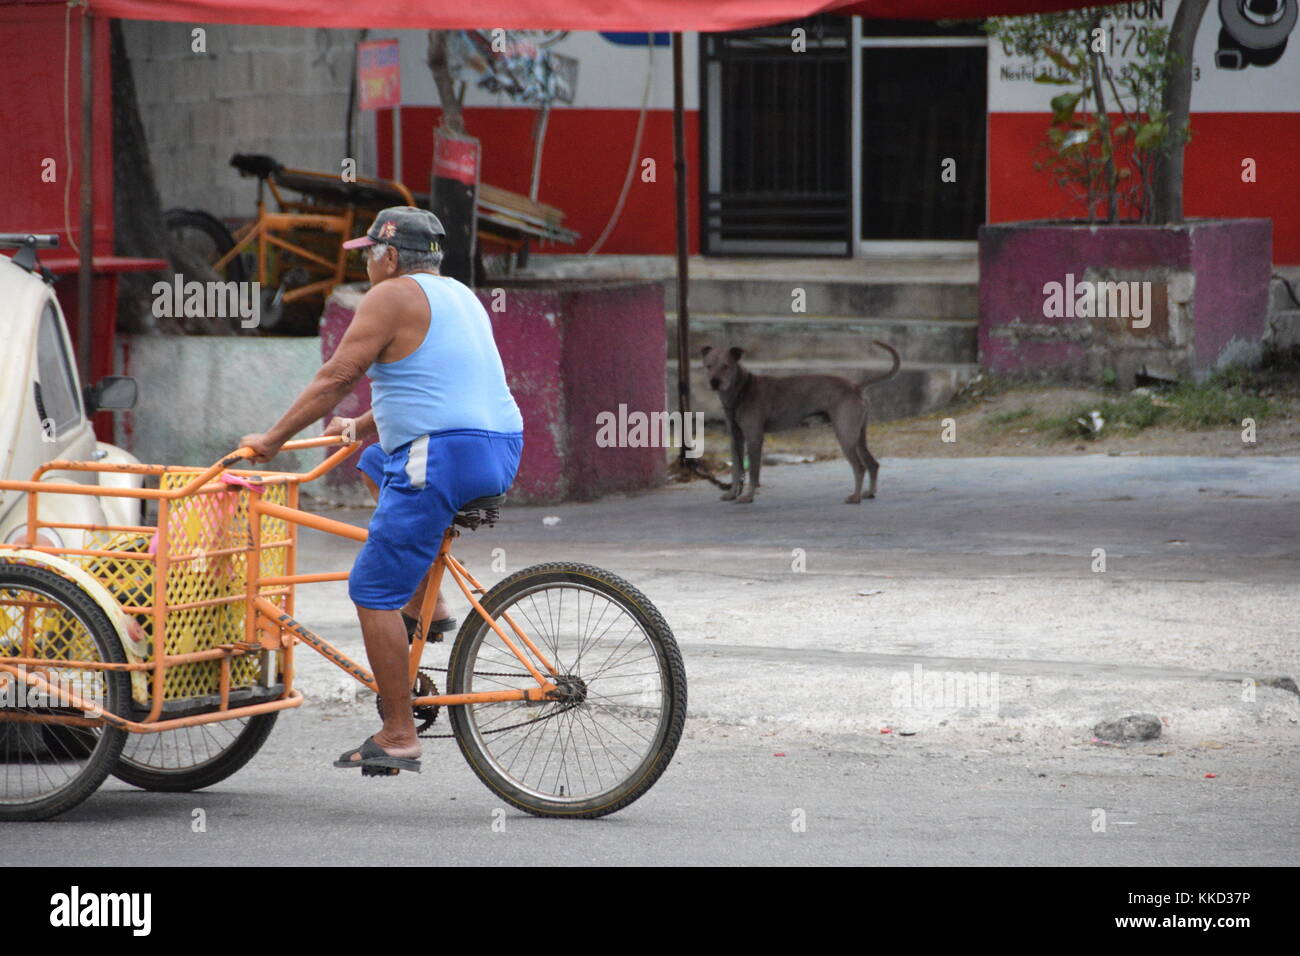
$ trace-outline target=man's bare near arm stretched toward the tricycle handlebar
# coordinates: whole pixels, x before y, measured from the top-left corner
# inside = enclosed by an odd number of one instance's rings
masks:
[[[365,294],[338,349],[280,421],[265,434],[240,438],[240,445],[254,450],[255,462],[274,458],[281,445],[335,407],[389,346],[396,328],[399,290],[387,285],[377,285]]]

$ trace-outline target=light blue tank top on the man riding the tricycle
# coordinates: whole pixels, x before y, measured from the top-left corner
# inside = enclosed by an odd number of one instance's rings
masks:
[[[422,434],[455,428],[521,434],[524,419],[478,297],[446,276],[404,278],[429,299],[429,332],[404,359],[367,369],[380,446],[393,454]]]

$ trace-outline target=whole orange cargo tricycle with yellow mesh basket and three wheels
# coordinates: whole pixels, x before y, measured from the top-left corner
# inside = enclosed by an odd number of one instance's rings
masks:
[[[294,653],[306,644],[376,689],[360,663],[295,619],[298,527],[355,541],[364,528],[298,507],[299,486],[356,451],[341,445],[303,472],[47,462],[30,481],[22,540],[0,545],[0,819],[44,819],[109,774],[155,791],[226,779],[296,708]],[[144,476],[82,484],[78,472]],[[88,476],[87,476],[88,477]],[[103,479],[103,476],[100,476]],[[156,502],[150,524],[43,520],[44,496]],[[412,708],[425,735],[447,708],[469,766],[511,805],[542,817],[599,817],[667,769],[686,715],[672,631],[608,571],[551,562],[486,589],[451,554],[462,529],[494,524],[504,496],[467,503],[443,535],[411,644]],[[473,611],[447,666],[422,663],[434,598],[450,576]],[[433,675],[446,671],[441,692]],[[378,701],[382,708],[382,701]]]

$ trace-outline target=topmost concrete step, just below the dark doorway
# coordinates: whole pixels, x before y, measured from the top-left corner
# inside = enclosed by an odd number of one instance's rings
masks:
[[[664,281],[664,307],[677,284]],[[796,291],[802,290],[801,297]],[[802,312],[793,311],[796,304]],[[692,278],[690,310],[701,313],[848,316],[861,319],[978,319],[979,282],[800,278]]]

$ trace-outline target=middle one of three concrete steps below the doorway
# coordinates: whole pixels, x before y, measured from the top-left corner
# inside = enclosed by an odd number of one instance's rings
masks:
[[[677,313],[668,312],[668,354],[677,347]],[[725,315],[693,312],[690,354],[706,345],[737,345],[754,362],[855,359],[888,360],[872,339],[902,356],[927,363],[974,363],[979,323],[974,319],[850,319],[845,316]]]

